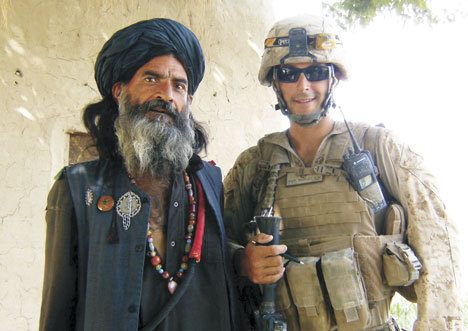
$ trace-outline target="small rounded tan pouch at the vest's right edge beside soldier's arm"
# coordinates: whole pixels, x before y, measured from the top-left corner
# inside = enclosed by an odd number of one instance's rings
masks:
[[[390,286],[409,286],[419,278],[421,262],[411,247],[401,242],[391,242],[385,246],[383,270]]]

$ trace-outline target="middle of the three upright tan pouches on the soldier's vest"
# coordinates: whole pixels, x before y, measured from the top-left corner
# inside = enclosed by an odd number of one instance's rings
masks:
[[[338,330],[365,329],[370,313],[354,250],[346,248],[323,255],[322,272]]]

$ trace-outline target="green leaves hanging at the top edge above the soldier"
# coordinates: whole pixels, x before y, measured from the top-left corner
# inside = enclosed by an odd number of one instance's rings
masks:
[[[337,0],[323,1],[324,9],[343,27],[368,25],[377,15],[395,13],[404,20],[436,22],[426,0]]]

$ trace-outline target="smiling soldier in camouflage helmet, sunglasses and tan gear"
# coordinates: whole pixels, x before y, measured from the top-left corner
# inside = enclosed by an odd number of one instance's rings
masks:
[[[398,330],[396,291],[418,304],[415,330],[459,330],[454,227],[434,178],[389,130],[327,116],[346,78],[342,41],[322,17],[270,30],[259,80],[290,126],[225,179],[234,268],[254,284],[279,280],[289,330]],[[246,227],[255,215],[282,217],[280,245],[258,245],[272,237]],[[284,267],[286,250],[304,264]]]

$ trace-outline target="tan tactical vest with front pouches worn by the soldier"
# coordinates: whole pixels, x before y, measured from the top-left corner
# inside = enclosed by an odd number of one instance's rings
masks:
[[[361,144],[366,130],[354,131]],[[288,264],[277,306],[288,330],[392,330],[388,313],[395,290],[383,279],[382,256],[387,243],[403,236],[379,235],[366,202],[348,183],[341,170],[347,132],[323,144],[313,167],[294,164],[276,145],[267,153],[281,162],[274,205],[283,220],[281,243],[305,263]],[[259,195],[262,201],[265,192]]]

